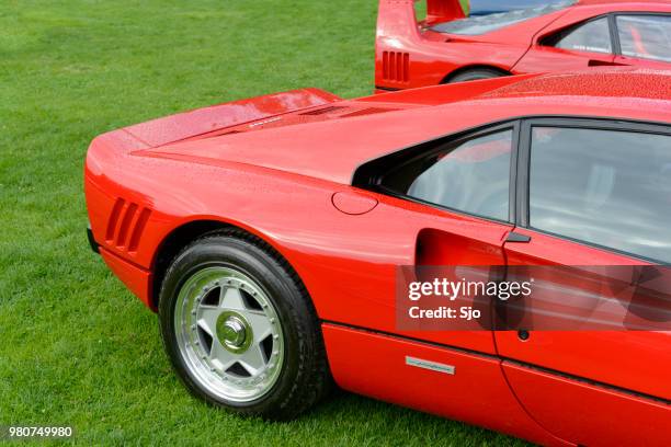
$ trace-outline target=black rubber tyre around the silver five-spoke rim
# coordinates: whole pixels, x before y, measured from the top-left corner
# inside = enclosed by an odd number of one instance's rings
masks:
[[[282,324],[284,359],[280,376],[262,397],[249,402],[235,402],[212,394],[198,385],[180,352],[174,326],[174,310],[181,287],[196,272],[226,266],[253,278],[268,295]],[[197,397],[240,413],[262,414],[270,409],[281,409],[291,397],[292,389],[300,382],[300,360],[309,349],[304,337],[305,316],[310,314],[307,302],[291,275],[258,247],[230,237],[209,237],[186,248],[166,274],[160,301],[159,320],[161,335],[168,356],[182,381]],[[303,316],[303,318],[302,318]]]

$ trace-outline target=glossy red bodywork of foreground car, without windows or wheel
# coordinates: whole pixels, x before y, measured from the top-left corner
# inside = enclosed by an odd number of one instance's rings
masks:
[[[367,161],[519,117],[669,124],[669,72],[594,69],[349,101],[302,90],[130,126],[89,148],[93,236],[113,272],[155,308],[158,260],[172,234],[193,222],[239,227],[303,279],[343,388],[541,444],[637,436],[669,445],[668,431],[636,432],[647,421],[671,424],[668,333],[544,332],[521,342],[511,332],[396,325],[398,265],[635,261],[539,234],[524,247],[505,243],[513,224],[352,186]],[[409,367],[406,356],[456,366],[456,374]]]

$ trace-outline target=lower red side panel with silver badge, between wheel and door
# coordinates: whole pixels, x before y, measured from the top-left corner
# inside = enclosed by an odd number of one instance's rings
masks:
[[[328,323],[323,336],[333,378],[344,389],[543,445],[570,445],[550,435],[519,404],[496,358]],[[442,374],[407,366],[406,356],[454,365],[459,373],[446,387]],[[375,367],[363,375],[361,365]]]

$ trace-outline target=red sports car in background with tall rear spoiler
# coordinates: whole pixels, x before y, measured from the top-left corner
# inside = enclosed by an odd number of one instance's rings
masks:
[[[504,4],[504,3],[502,3]],[[600,66],[671,68],[669,0],[553,0],[466,18],[458,0],[380,0],[377,91]]]

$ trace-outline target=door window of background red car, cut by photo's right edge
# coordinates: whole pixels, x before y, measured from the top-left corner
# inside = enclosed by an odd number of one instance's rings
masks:
[[[671,15],[618,15],[623,56],[671,62]]]

